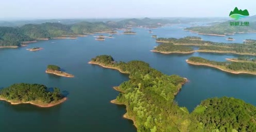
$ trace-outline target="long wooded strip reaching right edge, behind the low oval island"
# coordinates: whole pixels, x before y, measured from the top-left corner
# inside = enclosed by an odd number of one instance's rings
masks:
[[[156,42],[160,43],[172,43],[174,45],[182,46],[198,46],[196,52],[212,52],[212,53],[231,53],[242,55],[256,55],[256,42],[246,42],[245,44],[227,44],[211,41],[204,41],[198,39],[191,39],[192,36],[185,38],[157,38]],[[168,45],[166,45],[168,46]],[[171,45],[169,45],[171,46]],[[184,47],[185,48],[185,47]]]

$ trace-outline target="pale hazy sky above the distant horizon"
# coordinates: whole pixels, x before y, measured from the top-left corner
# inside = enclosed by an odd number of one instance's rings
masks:
[[[255,0],[0,0],[0,18],[228,17]]]

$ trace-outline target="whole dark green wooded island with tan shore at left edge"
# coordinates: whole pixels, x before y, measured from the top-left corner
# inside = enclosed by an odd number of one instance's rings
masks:
[[[33,104],[39,107],[52,107],[66,101],[59,88],[47,88],[41,84],[12,84],[0,90],[0,100],[11,104]]]

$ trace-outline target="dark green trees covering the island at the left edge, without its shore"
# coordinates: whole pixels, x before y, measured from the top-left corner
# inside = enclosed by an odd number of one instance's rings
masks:
[[[13,84],[7,88],[0,90],[0,96],[7,100],[16,100],[22,102],[39,101],[50,103],[64,98],[60,89],[47,88],[41,84]]]

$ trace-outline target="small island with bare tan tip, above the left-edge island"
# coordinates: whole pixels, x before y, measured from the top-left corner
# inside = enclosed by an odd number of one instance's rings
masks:
[[[64,77],[67,77],[67,78],[73,78],[74,77],[74,75],[68,74],[66,72],[62,72],[60,70],[60,67],[55,66],[55,65],[48,65],[45,72],[49,73],[49,74],[55,74],[55,75],[58,75],[58,76],[64,76]]]

